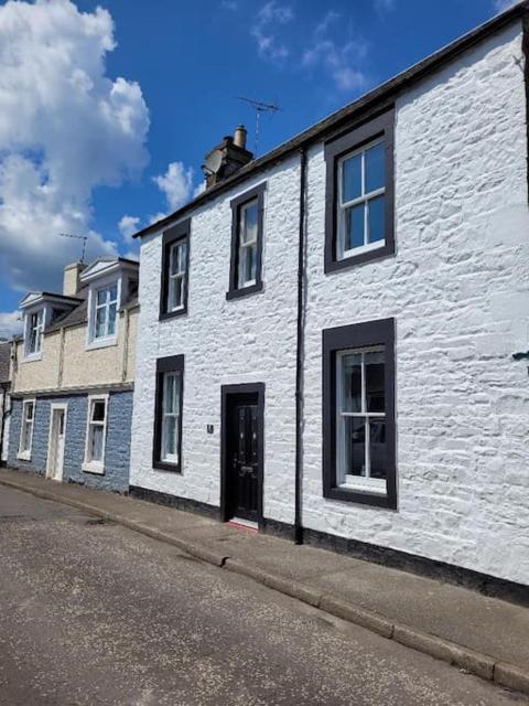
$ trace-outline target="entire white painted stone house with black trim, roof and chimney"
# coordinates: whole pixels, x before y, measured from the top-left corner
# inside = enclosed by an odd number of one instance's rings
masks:
[[[138,234],[132,492],[529,585],[528,12]]]

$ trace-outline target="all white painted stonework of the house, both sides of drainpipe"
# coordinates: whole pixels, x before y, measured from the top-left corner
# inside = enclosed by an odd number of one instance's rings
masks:
[[[323,272],[323,146],[309,160],[304,526],[529,584],[529,212],[521,28],[396,109],[396,255]],[[141,250],[131,483],[219,503],[220,385],[264,382],[264,516],[293,521],[299,161],[193,216],[188,315],[158,321]],[[226,301],[229,201],[268,181],[264,291]],[[324,500],[322,330],[395,317],[398,511]],[[185,354],[184,474],[153,471],[155,359]],[[207,424],[215,434],[206,434]]]

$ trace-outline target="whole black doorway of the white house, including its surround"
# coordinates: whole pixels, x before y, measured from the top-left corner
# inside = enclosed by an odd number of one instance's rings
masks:
[[[262,520],[264,385],[222,388],[220,511],[225,522]]]

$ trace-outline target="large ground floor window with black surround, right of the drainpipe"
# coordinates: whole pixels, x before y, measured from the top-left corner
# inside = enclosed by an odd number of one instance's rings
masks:
[[[393,320],[323,332],[324,494],[396,506]]]

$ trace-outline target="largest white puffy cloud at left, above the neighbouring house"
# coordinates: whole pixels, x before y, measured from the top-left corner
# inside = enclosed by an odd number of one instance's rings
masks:
[[[118,185],[147,161],[149,114],[137,83],[106,75],[108,11],[69,0],[0,7],[0,277],[58,286],[89,235],[87,257],[116,245],[89,229],[95,186]]]

